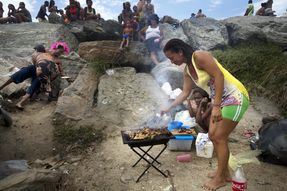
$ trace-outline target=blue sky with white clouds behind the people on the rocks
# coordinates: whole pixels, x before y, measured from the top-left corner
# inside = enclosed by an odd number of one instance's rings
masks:
[[[35,17],[44,4],[45,0],[0,0],[3,3],[4,16],[8,13],[8,4],[13,4],[17,9],[19,2],[25,3],[26,8],[32,15],[33,22],[38,22]],[[86,7],[86,0],[78,0],[82,7]],[[130,0],[131,7],[137,5],[139,0]],[[287,9],[287,0],[273,0],[272,9],[276,11],[277,16],[280,16]],[[108,20],[114,19],[117,21],[117,16],[123,9],[123,0],[93,0],[92,7],[96,12],[101,14],[101,17]],[[254,15],[261,7],[261,3],[266,0],[254,0]],[[155,6],[155,13],[161,18],[165,15],[182,21],[189,19],[191,13],[197,13],[202,10],[207,17],[212,17],[217,20],[225,19],[233,16],[243,16],[248,5],[248,0],[152,0]],[[63,9],[69,4],[68,0],[55,0],[55,5],[58,9]],[[47,11],[48,12],[48,11]]]

